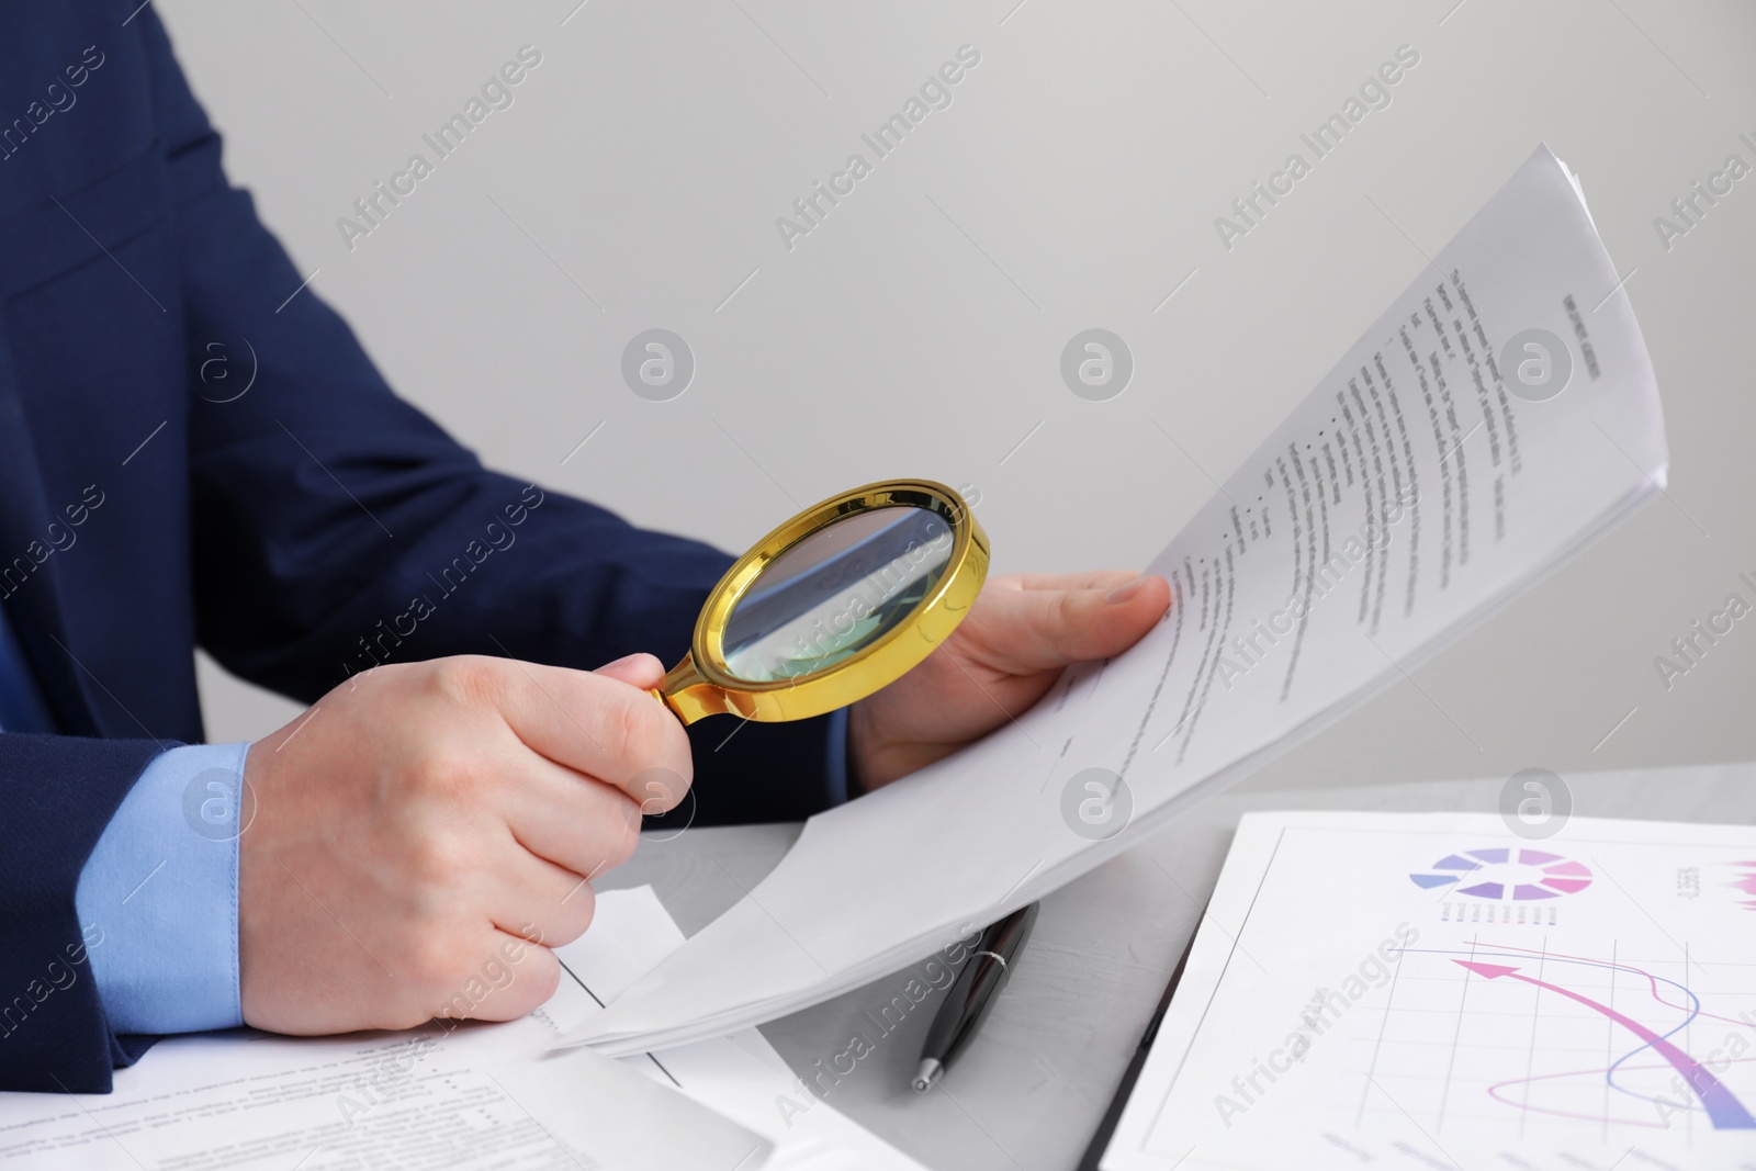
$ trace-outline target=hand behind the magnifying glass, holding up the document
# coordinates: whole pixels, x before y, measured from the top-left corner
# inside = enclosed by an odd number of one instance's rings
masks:
[[[1062,667],[1120,655],[1169,604],[1164,578],[1126,571],[989,579],[952,637],[848,709],[850,790],[889,785],[1017,718]]]

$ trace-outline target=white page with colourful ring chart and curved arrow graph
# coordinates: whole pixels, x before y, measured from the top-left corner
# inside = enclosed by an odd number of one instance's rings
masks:
[[[1756,829],[1252,813],[1101,1166],[1756,1166]]]

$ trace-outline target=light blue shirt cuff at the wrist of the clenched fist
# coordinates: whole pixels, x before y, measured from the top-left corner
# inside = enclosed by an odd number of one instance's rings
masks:
[[[79,873],[74,906],[104,930],[91,974],[116,1032],[244,1024],[237,980],[237,836],[249,744],[158,755]]]

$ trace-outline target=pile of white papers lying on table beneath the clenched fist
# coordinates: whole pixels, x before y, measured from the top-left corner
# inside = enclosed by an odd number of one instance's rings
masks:
[[[550,1052],[557,1022],[588,1020],[594,997],[681,943],[651,888],[606,892],[585,938],[558,948],[560,990],[523,1020],[170,1038],[112,1094],[0,1094],[0,1167],[918,1171],[813,1099],[755,1031],[657,1060]]]

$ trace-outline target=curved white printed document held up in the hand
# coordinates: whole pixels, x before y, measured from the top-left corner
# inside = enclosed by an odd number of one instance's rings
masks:
[[[1405,678],[1665,472],[1640,328],[1540,147],[1152,562],[1173,602],[1140,644],[811,818],[569,1039],[720,1036],[950,945]]]

